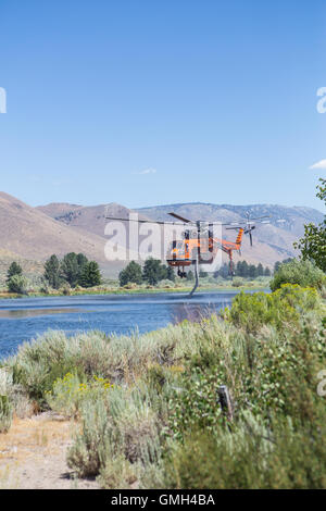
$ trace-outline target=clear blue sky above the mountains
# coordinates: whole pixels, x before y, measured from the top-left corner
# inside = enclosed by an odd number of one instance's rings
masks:
[[[324,0],[0,0],[0,189],[322,210]]]

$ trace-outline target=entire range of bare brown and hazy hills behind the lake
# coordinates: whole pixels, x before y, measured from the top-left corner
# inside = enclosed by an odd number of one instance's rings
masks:
[[[105,216],[128,217],[131,210],[124,205],[111,202],[92,207],[80,204],[51,203],[32,208],[21,200],[0,192],[0,260],[3,269],[8,261],[20,259],[30,267],[35,261],[45,261],[52,253],[59,257],[66,252],[84,252],[88,258],[98,261],[105,276],[116,276],[125,262],[106,261],[104,246],[109,237],[104,235]],[[237,222],[250,211],[252,216],[271,215],[271,224],[258,225],[254,232],[254,245],[249,246],[246,238],[242,245],[241,259],[248,262],[272,266],[279,261],[296,254],[293,241],[303,234],[303,225],[313,222],[319,223],[324,215],[311,208],[283,207],[276,204],[205,204],[179,203],[166,204],[135,210],[140,219],[171,220],[170,211],[174,211],[190,220],[212,220],[222,222]],[[278,223],[283,220],[283,223]],[[129,224],[126,223],[126,238],[129,234]],[[153,246],[158,237],[152,236]],[[140,241],[146,240],[148,229],[143,227]],[[234,239],[233,230],[224,230],[223,237]],[[115,242],[115,241],[113,241]],[[118,241],[118,249],[123,240]],[[156,252],[152,256],[160,257]],[[130,259],[136,259],[136,246],[130,247]],[[235,254],[237,261],[240,256]],[[2,269],[2,270],[3,270]]]

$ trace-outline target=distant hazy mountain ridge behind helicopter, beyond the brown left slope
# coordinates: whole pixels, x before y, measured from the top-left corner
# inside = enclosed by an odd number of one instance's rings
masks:
[[[116,204],[101,204],[95,207],[83,207],[76,204],[54,203],[37,208],[38,211],[47,213],[57,222],[60,222],[74,229],[83,229],[104,236],[106,224],[105,216],[128,217],[131,210]],[[247,211],[252,217],[271,216],[269,224],[258,224],[254,232],[254,244],[250,247],[246,237],[242,244],[241,259],[248,262],[272,266],[276,261],[296,256],[293,241],[302,236],[303,225],[310,222],[319,223],[324,215],[317,210],[303,207],[284,207],[278,204],[208,204],[208,203],[176,203],[156,205],[152,208],[141,208],[134,210],[139,213],[140,219],[151,219],[153,221],[171,221],[168,212],[174,211],[190,220],[239,222],[246,219]],[[281,222],[278,222],[281,221]],[[126,236],[128,236],[129,224],[126,223]],[[158,239],[159,234],[156,234]],[[223,230],[223,237],[234,239],[235,233]],[[153,238],[154,239],[154,238]],[[131,247],[136,250],[135,247]],[[136,252],[135,252],[136,253]],[[235,254],[237,261],[240,257]]]

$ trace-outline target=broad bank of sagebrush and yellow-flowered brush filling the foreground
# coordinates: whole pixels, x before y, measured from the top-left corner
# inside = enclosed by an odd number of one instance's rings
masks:
[[[0,424],[72,417],[68,464],[104,488],[325,487],[325,315],[317,291],[287,285],[142,336],[49,332],[3,362]]]

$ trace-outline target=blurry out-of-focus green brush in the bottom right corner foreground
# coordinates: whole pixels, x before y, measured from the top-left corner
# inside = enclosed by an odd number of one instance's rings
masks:
[[[229,432],[198,431],[176,445],[165,461],[168,488],[324,488],[325,414],[298,429],[272,420],[272,431],[250,414]]]

